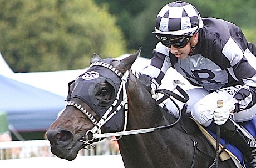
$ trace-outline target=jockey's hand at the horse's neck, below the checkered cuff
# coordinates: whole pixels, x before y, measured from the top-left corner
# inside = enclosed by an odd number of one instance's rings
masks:
[[[152,78],[148,75],[141,75],[140,76],[141,82],[144,84],[144,87],[151,93],[152,98],[157,99],[158,95],[155,93],[155,89],[157,88],[156,85],[152,82]]]

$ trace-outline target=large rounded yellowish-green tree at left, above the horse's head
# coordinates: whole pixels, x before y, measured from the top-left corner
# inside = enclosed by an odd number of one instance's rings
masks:
[[[0,51],[15,72],[78,69],[126,43],[115,17],[92,0],[0,1]]]

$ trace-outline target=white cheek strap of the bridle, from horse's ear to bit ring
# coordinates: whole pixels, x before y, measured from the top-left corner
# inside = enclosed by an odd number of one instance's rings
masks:
[[[96,134],[100,135],[101,132],[99,130],[101,130],[101,127],[107,122],[109,121],[122,107],[124,107],[124,129],[123,131],[126,130],[127,127],[127,118],[128,118],[128,97],[127,97],[127,92],[126,92],[126,84],[127,84],[127,80],[129,79],[129,71],[127,70],[124,75],[121,78],[121,85],[119,87],[119,90],[117,92],[117,96],[116,99],[114,100],[114,103],[112,103],[112,105],[110,106],[109,109],[107,109],[106,113],[102,116],[102,118],[99,120],[99,122],[91,129],[88,130],[85,134],[85,141],[93,141],[95,139],[97,139]],[[123,100],[121,101],[121,103],[117,106],[117,102],[120,99],[120,93],[122,91],[122,97]],[[116,110],[113,111],[111,113],[111,111],[115,108],[115,106],[117,106]],[[111,113],[111,114],[110,114]],[[110,115],[109,115],[110,114]],[[88,139],[88,134],[91,133],[92,134],[92,139],[89,140]],[[118,139],[111,139],[111,140],[119,140],[122,136],[120,136]]]

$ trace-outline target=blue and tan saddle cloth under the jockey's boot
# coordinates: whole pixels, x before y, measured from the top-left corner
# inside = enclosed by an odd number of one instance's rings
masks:
[[[205,135],[205,137],[211,142],[211,145],[213,145],[214,148],[216,149],[216,146],[215,146],[216,145],[216,142],[215,142],[216,134],[211,132],[210,130],[204,128],[204,126],[200,125],[197,121],[195,121],[195,123],[198,125],[199,129],[202,131],[202,133]],[[247,123],[245,125],[243,125],[243,127],[245,129],[247,129],[247,131],[249,131],[249,133],[252,134],[252,136],[254,136],[254,137],[256,136],[256,118],[253,120],[247,121]],[[223,146],[225,145],[225,143],[226,143],[226,141],[220,138],[219,151],[221,151],[223,149]],[[231,158],[234,161],[235,165],[237,165],[238,168],[247,167],[244,164],[242,152],[240,152],[240,150],[238,150],[238,148],[232,144],[228,143],[227,147],[225,148],[225,150],[223,152],[221,152],[219,157],[220,157],[221,161]]]

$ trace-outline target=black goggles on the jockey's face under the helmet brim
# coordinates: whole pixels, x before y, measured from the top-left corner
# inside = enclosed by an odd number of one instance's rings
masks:
[[[173,47],[175,48],[183,48],[186,46],[186,44],[188,44],[190,37],[191,36],[168,36],[168,35],[156,35],[156,37],[160,40],[160,42],[165,45],[166,47],[171,47],[171,45],[173,45]]]

